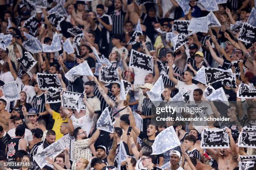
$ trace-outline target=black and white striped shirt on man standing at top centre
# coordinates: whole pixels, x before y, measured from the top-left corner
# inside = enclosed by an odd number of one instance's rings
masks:
[[[111,31],[112,35],[123,33],[125,14],[126,13],[123,12],[123,10],[119,10],[119,11],[114,10],[109,14],[113,22],[113,29]]]

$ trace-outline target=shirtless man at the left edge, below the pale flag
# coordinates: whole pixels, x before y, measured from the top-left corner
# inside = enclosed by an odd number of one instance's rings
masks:
[[[0,99],[0,125],[3,126],[5,131],[8,130],[8,124],[10,119],[10,113],[5,110],[6,101],[4,99]]]

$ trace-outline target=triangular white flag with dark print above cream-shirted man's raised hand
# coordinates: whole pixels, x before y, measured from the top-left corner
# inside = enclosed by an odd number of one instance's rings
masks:
[[[114,133],[114,125],[110,117],[108,107],[103,110],[99,119],[97,120],[97,129],[104,130],[109,133]]]

